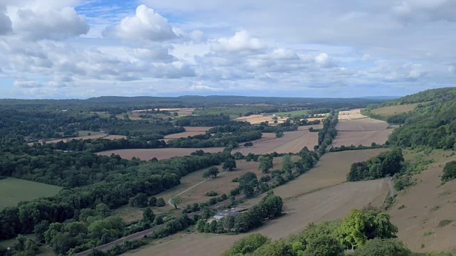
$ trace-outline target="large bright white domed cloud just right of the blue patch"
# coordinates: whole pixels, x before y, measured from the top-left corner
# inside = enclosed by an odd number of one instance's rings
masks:
[[[167,19],[145,5],[138,6],[135,16],[125,17],[117,26],[106,28],[103,36],[148,41],[167,41],[177,38]]]

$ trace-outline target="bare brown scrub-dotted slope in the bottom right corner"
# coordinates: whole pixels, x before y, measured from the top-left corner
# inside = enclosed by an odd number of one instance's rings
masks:
[[[418,184],[398,193],[389,213],[392,222],[398,225],[398,237],[410,250],[456,252],[456,181],[442,184],[439,177],[447,161],[456,160],[456,156],[445,157],[450,156],[451,151],[432,153],[426,158],[437,159],[437,162],[413,176]],[[442,220],[453,222],[441,226]]]

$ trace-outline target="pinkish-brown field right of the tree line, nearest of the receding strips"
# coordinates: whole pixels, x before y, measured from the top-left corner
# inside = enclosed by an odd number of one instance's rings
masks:
[[[332,146],[371,146],[372,142],[375,142],[376,144],[385,144],[393,131],[394,129],[367,132],[337,132],[337,137],[334,139]]]

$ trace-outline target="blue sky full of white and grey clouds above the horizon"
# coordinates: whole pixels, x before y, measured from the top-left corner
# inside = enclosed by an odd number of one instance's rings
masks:
[[[456,85],[455,0],[0,0],[0,98]]]

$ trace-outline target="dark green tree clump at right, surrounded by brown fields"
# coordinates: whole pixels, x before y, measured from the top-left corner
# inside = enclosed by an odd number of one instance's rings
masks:
[[[404,158],[400,149],[380,153],[367,161],[353,163],[347,181],[366,181],[393,176],[402,171]]]

